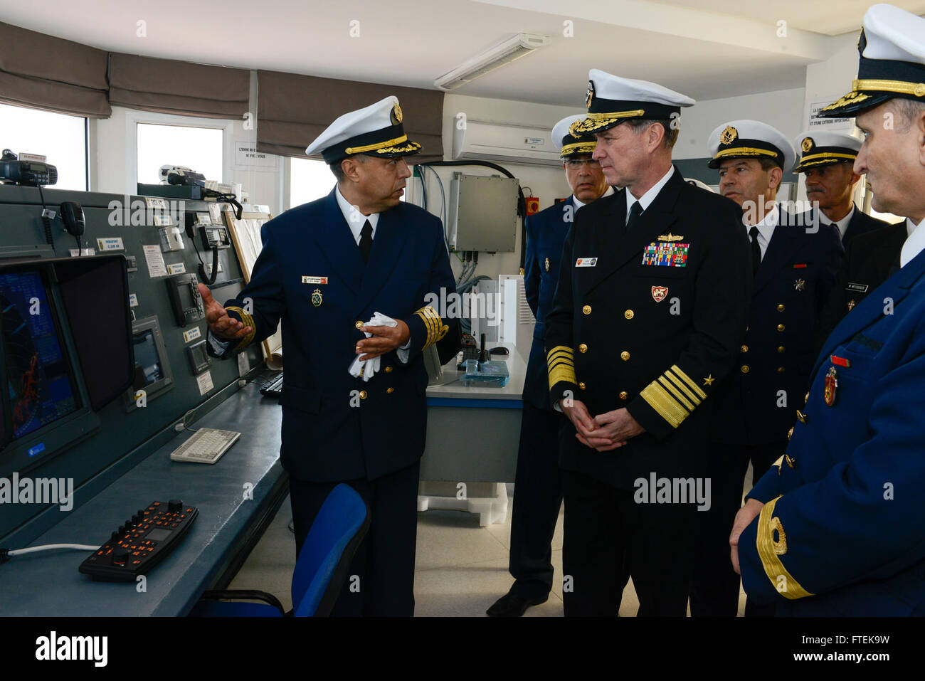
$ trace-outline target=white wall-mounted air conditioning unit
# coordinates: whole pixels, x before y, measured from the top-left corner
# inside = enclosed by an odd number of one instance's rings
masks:
[[[453,127],[453,160],[562,165],[561,145],[553,142],[549,128],[472,119],[463,128]]]

